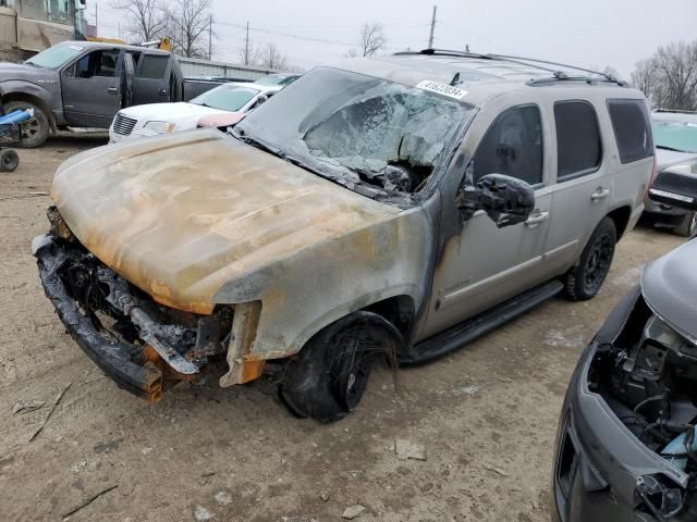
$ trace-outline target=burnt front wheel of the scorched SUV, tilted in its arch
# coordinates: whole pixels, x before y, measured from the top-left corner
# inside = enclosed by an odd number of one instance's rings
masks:
[[[316,334],[290,361],[279,397],[296,417],[334,422],[360,402],[376,360],[391,361],[400,332],[381,315],[354,312]]]

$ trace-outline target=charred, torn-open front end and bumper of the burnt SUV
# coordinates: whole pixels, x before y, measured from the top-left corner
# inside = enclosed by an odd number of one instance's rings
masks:
[[[121,388],[156,402],[164,383],[194,380],[228,351],[231,307],[200,315],[156,302],[88,252],[56,208],[48,214],[51,232],[32,244],[46,295],[73,339]]]

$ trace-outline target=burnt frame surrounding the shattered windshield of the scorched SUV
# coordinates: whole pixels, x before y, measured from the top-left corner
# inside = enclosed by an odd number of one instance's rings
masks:
[[[338,71],[340,73],[347,73],[351,75],[356,75],[356,76],[363,76],[365,77],[367,80],[377,80],[383,84],[392,84],[395,86],[401,86],[404,87],[406,89],[418,89],[418,87],[416,86],[416,84],[412,85],[411,83],[404,83],[404,82],[395,82],[394,79],[391,78],[386,78],[382,76],[375,76],[375,75],[370,75],[370,74],[366,74],[364,72],[357,72],[354,70],[348,70],[348,69],[341,69],[341,67],[337,67],[337,66],[320,66],[320,67],[316,67],[316,70],[333,70],[333,71]],[[310,71],[311,73],[311,71]],[[285,87],[283,90],[289,90],[289,91],[293,91],[295,90],[295,86],[297,84],[297,82],[299,82],[301,79],[303,79],[305,76],[310,76],[310,73],[307,73],[306,75],[301,76],[299,78],[297,78],[295,82],[293,82],[291,85],[289,85],[288,87]],[[302,84],[298,84],[298,86]],[[429,92],[429,95],[431,95],[432,92]],[[439,98],[442,95],[436,95]],[[278,96],[276,96],[274,98],[278,98]],[[371,199],[376,199],[376,200],[380,200],[381,202],[386,202],[386,203],[392,203],[392,204],[396,204],[398,207],[401,208],[411,208],[414,206],[420,206],[423,203],[425,203],[426,201],[428,201],[430,198],[433,197],[433,195],[437,192],[438,187],[441,185],[443,178],[447,176],[447,173],[450,171],[453,158],[455,157],[455,154],[457,153],[457,151],[460,150],[463,139],[469,128],[469,126],[472,125],[472,122],[475,120],[475,116],[477,115],[478,111],[479,111],[479,107],[473,102],[469,101],[465,101],[465,100],[452,100],[449,97],[442,97],[443,99],[451,101],[451,102],[456,102],[458,104],[461,104],[463,107],[463,109],[465,109],[465,115],[466,117],[463,117],[462,121],[458,123],[457,127],[452,132],[451,138],[448,141],[443,141],[442,145],[442,153],[441,153],[441,158],[440,160],[435,163],[432,165],[432,171],[431,173],[428,175],[428,177],[423,182],[423,186],[418,191],[412,191],[412,192],[407,192],[407,191],[401,191],[401,190],[389,190],[389,189],[384,189],[383,187],[376,185],[376,184],[371,184],[365,181],[359,181],[356,182],[354,179],[350,179],[347,177],[342,177],[340,175],[338,175],[335,172],[332,172],[331,169],[319,169],[318,165],[316,164],[311,164],[311,165],[304,165],[304,164],[299,164],[298,166],[304,167],[306,170],[308,170],[309,172],[315,173],[316,175],[323,177],[332,183],[335,183],[348,190],[351,190],[354,194],[359,194],[366,197],[369,197]],[[268,104],[267,104],[268,105]],[[269,108],[270,109],[270,108]],[[339,110],[340,108],[337,108],[337,110]],[[256,111],[255,111],[256,113]],[[245,119],[246,121],[246,119]],[[243,122],[241,122],[243,123]],[[231,134],[233,137],[241,139],[243,141],[257,141],[257,145],[260,146],[260,148],[267,149],[268,150],[273,150],[271,153],[274,153],[277,156],[279,156],[282,159],[285,159],[286,161],[291,161],[294,162],[295,164],[298,164],[296,162],[297,158],[294,158],[294,153],[295,151],[293,151],[292,148],[279,148],[276,144],[267,144],[261,138],[262,136],[258,136],[256,133],[252,132],[252,133],[246,133],[245,128],[244,128],[244,124],[235,126],[231,129]],[[286,156],[288,154],[288,156]],[[319,166],[321,166],[321,164],[319,164]],[[348,169],[345,165],[343,165],[344,169]]]

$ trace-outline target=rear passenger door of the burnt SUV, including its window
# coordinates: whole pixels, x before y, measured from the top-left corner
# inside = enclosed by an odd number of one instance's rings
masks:
[[[553,117],[555,176],[545,263],[551,275],[559,275],[576,261],[608,214],[612,163],[604,152],[610,136],[601,134],[592,103],[558,99]]]

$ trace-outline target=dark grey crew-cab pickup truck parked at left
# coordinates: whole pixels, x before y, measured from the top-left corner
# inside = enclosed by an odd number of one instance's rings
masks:
[[[124,107],[186,101],[221,83],[184,78],[167,51],[95,41],[65,41],[24,63],[0,63],[2,110],[34,110],[22,127],[26,148],[59,128],[109,128]]]

